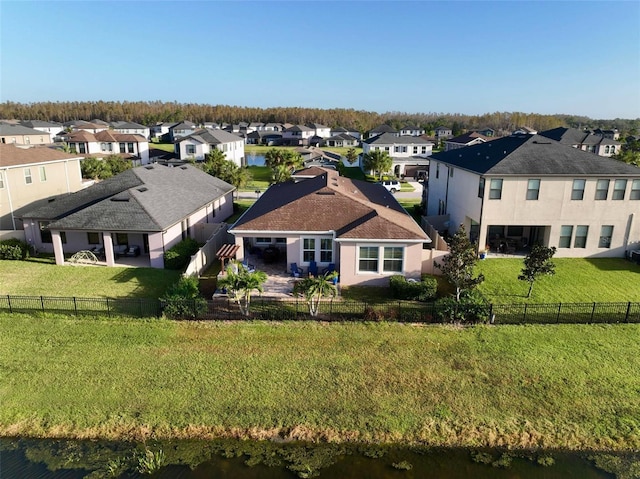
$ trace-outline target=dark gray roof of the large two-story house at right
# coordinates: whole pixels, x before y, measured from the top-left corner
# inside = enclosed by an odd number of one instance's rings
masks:
[[[480,175],[640,177],[640,168],[540,135],[512,135],[435,153],[431,161],[441,161]]]

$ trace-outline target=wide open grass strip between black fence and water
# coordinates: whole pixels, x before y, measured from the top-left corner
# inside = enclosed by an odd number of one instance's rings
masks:
[[[640,326],[0,315],[0,435],[631,450]]]

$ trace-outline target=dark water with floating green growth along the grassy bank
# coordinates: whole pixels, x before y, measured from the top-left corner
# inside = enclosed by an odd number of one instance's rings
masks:
[[[162,479],[616,477],[595,467],[593,458],[588,454],[575,452],[472,451],[229,440],[132,444],[0,439],[0,478],[142,478],[152,472],[149,468],[153,469],[153,458],[158,456],[162,456],[163,466],[153,471],[153,477]],[[604,463],[605,460],[618,463],[618,474],[624,477],[634,463],[637,467],[640,454],[601,456],[600,461]],[[553,464],[544,466],[541,462]]]

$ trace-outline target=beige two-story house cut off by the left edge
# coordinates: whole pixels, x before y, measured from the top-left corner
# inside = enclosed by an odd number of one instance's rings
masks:
[[[0,144],[0,230],[22,230],[26,209],[80,190],[80,160],[46,146]]]

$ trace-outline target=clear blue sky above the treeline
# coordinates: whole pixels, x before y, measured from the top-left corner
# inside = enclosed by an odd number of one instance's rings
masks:
[[[640,2],[5,1],[0,101],[640,117]]]

